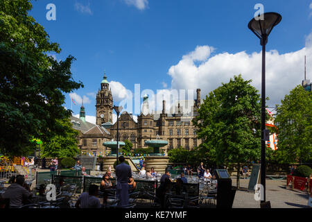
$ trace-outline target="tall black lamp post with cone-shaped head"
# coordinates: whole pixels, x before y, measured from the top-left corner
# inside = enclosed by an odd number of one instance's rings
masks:
[[[263,19],[261,19],[261,17]],[[263,200],[266,202],[266,44],[274,26],[281,22],[281,15],[276,12],[266,12],[260,17],[254,17],[248,24],[248,28],[257,35],[262,46],[262,80],[261,80],[261,185],[263,186]]]

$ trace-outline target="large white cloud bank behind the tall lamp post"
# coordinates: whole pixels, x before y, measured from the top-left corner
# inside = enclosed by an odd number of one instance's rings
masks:
[[[306,47],[291,53],[279,54],[276,50],[266,52],[266,96],[268,105],[280,103],[304,77],[304,56],[312,58],[312,33],[306,37]],[[172,77],[172,89],[202,89],[202,97],[216,89],[229,78],[242,74],[245,80],[252,79],[252,85],[261,93],[261,51],[251,54],[218,53],[209,57],[214,48],[197,46],[195,51],[182,56],[182,60],[168,70]],[[200,61],[196,64],[196,61]],[[312,62],[307,64],[312,70]],[[309,73],[307,73],[309,76]],[[310,78],[312,78],[310,74]]]

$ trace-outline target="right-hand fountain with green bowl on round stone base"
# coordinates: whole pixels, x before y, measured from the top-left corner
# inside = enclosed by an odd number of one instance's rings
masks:
[[[162,155],[162,153],[159,153],[159,148],[166,146],[168,142],[166,140],[159,139],[159,135],[157,135],[157,139],[146,140],[145,144],[146,146],[154,148],[154,153],[151,153],[149,156],[145,157],[145,168],[151,169],[152,167],[154,167],[157,173],[164,173],[168,165],[169,157]]]

